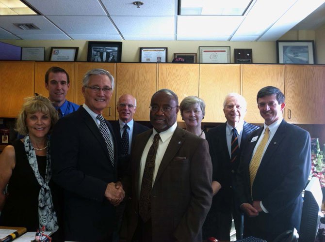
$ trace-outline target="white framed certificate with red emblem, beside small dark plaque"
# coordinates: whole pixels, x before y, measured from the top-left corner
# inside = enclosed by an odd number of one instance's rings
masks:
[[[199,63],[230,63],[230,46],[199,46]]]

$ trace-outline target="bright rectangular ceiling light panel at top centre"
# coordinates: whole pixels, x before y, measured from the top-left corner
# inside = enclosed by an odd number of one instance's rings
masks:
[[[251,0],[180,0],[180,15],[243,15]]]

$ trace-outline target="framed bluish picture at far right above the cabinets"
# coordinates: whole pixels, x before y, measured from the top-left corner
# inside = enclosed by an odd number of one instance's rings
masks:
[[[277,63],[315,64],[314,41],[276,41]]]

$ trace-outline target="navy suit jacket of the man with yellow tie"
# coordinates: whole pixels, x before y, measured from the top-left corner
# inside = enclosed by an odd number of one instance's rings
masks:
[[[302,197],[308,181],[311,156],[310,135],[298,126],[282,121],[260,162],[250,191],[249,163],[263,129],[251,133],[245,142],[237,174],[237,195],[240,204],[261,200],[268,213],[244,217],[244,236],[274,240],[285,230],[299,231]],[[252,199],[253,197],[253,199]]]

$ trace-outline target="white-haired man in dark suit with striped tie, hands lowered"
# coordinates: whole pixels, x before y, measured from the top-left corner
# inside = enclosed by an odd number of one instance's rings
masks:
[[[244,121],[246,101],[238,93],[229,93],[224,101],[227,122],[211,128],[208,142],[213,165],[211,210],[203,226],[203,237],[230,241],[234,219],[237,240],[243,236],[243,212],[234,198],[234,189],[242,144],[248,134],[259,127]]]

